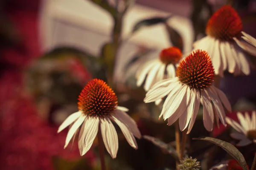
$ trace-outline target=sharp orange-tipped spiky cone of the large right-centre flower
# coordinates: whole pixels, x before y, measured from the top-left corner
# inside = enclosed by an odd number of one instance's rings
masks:
[[[204,90],[214,81],[214,68],[206,51],[196,50],[183,59],[176,70],[180,82]]]

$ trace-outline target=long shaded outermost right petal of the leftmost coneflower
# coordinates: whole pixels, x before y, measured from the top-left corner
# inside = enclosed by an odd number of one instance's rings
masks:
[[[136,122],[127,113],[116,110],[112,113],[112,116],[125,124],[135,137],[138,139],[141,138],[140,130],[138,129]]]

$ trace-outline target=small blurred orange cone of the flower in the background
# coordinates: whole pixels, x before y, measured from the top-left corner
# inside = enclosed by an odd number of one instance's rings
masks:
[[[163,49],[160,53],[160,60],[165,64],[176,64],[181,59],[182,53],[177,47]]]

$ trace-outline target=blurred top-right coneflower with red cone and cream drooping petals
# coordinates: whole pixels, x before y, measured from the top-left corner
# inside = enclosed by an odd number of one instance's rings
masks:
[[[223,77],[228,70],[234,75],[250,74],[250,65],[234,37],[240,37],[243,25],[235,9],[223,6],[209,19],[206,37],[194,43],[195,49],[208,52],[212,59],[215,74]]]

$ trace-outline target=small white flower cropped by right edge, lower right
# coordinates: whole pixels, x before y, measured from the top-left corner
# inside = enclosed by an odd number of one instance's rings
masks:
[[[246,146],[251,143],[256,143],[256,112],[253,111],[252,117],[250,118],[248,113],[245,116],[242,113],[237,113],[239,123],[226,117],[227,124],[232,126],[237,132],[231,133],[230,136],[234,139],[240,140],[236,146]]]

